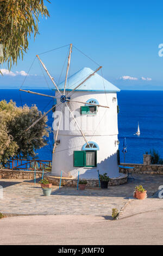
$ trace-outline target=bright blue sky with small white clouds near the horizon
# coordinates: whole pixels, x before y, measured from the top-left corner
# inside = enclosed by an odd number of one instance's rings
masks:
[[[20,87],[36,54],[72,43],[102,65],[104,77],[120,89],[163,89],[163,57],[158,55],[163,43],[161,1],[51,2],[45,1],[51,17],[40,18],[40,35],[30,39],[23,61],[10,74],[7,65],[1,66],[0,88]],[[57,82],[67,51],[65,47],[40,55]],[[70,75],[84,66],[97,68],[73,48]],[[48,78],[47,82],[52,87]],[[37,60],[23,87],[47,87]]]

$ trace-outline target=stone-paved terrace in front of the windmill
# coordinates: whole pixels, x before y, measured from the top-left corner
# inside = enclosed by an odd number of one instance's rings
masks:
[[[53,186],[50,197],[43,197],[40,184],[34,185],[34,180],[1,179],[0,185],[4,189],[3,199],[0,200],[0,212],[17,215],[108,216],[109,220],[112,208],[120,211],[128,203],[141,203],[140,200],[133,199],[134,188],[139,184],[147,189],[146,200],[156,200],[160,205],[161,199],[155,198],[153,194],[158,191],[160,185],[163,185],[163,175],[133,176],[135,180],[130,180],[128,184],[111,186],[107,190],[86,188],[85,191],[78,191],[77,188],[71,187],[61,187],[59,190],[58,186]],[[126,207],[124,211],[125,209]],[[127,215],[130,215],[129,212]]]

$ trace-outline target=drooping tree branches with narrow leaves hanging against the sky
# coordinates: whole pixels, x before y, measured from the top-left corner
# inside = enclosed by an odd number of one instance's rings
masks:
[[[28,38],[39,34],[40,14],[49,16],[43,0],[0,0],[0,44],[4,55],[0,57],[0,64],[8,62],[10,69],[18,58],[23,59]]]

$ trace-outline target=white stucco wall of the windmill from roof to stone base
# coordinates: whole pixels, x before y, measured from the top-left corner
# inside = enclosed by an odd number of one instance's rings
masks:
[[[113,101],[116,93],[104,92],[75,92],[71,99],[86,102],[89,99],[97,99],[99,104],[109,106],[109,108],[98,107],[97,115],[80,115],[80,106],[84,104],[69,102],[71,110],[76,114],[76,119],[82,131],[84,132],[87,141],[96,142],[99,146],[97,151],[97,167],[74,167],[73,166],[73,151],[82,150],[85,144],[84,138],[81,136],[78,127],[75,126],[71,114],[67,109],[64,111],[63,122],[59,131],[58,139],[60,144],[53,154],[52,174],[60,176],[63,170],[64,176],[77,177],[78,170],[80,178],[97,179],[99,173],[108,173],[110,178],[118,177],[117,165],[117,149],[118,145],[115,144],[118,135],[117,126],[117,100]],[[59,102],[58,102],[59,103]],[[60,106],[61,107],[61,106]],[[60,107],[57,106],[54,113],[54,124],[58,123],[58,114]],[[68,124],[68,125],[67,125]],[[70,124],[70,127],[68,127]],[[74,129],[75,126],[75,129]],[[57,126],[54,126],[54,133]]]

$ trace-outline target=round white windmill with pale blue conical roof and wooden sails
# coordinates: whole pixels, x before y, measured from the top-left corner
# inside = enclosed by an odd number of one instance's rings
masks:
[[[69,78],[67,87],[71,52],[72,44],[66,78],[59,86],[37,56],[55,86],[55,96],[22,90],[57,99],[57,104],[53,106],[55,112],[52,175],[60,176],[63,170],[69,177],[76,178],[79,172],[80,178],[97,179],[99,170],[101,174],[107,173],[110,178],[116,178],[120,176],[117,161],[116,96],[120,89],[97,74],[102,66],[95,71],[90,68],[78,71]]]

